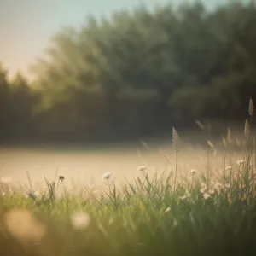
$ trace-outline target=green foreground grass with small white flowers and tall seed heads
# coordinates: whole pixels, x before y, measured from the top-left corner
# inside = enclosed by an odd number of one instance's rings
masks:
[[[28,176],[26,196],[2,181],[0,255],[256,255],[256,151],[250,123],[241,160],[232,162],[225,149],[230,130],[224,138],[223,164],[217,166],[221,176],[212,172],[214,145],[208,142],[205,174],[191,170],[178,177],[174,129],[174,173],[150,177],[140,166],[141,176],[122,187],[106,173],[103,191],[87,187],[83,195],[67,193],[65,177],[57,173],[54,181],[45,179],[47,191],[39,194]],[[61,187],[64,193],[58,196]]]

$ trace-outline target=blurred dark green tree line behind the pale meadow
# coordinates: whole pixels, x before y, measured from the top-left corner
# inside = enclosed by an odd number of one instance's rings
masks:
[[[8,81],[0,67],[0,137],[122,139],[244,119],[256,95],[255,27],[252,1],[141,5],[63,28],[32,82]]]

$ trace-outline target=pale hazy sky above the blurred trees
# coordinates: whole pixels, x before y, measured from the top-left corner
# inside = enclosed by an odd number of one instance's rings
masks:
[[[131,9],[142,2],[153,7],[170,0],[0,0],[0,61],[10,75],[18,69],[27,74],[28,66],[61,26],[78,27],[87,15],[111,15],[113,10]],[[214,6],[224,0],[203,2]]]

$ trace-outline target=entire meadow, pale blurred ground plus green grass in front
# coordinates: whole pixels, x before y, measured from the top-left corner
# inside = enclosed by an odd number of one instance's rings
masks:
[[[256,255],[250,121],[239,139],[189,145],[173,129],[171,147],[129,154],[2,149],[0,255]]]

